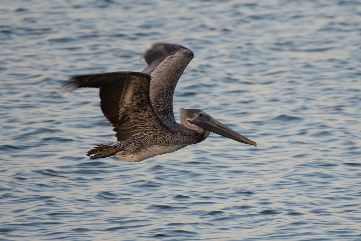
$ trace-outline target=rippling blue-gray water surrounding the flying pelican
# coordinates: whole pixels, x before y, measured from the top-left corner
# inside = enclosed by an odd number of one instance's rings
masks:
[[[96,89],[73,75],[141,71],[152,43],[195,54],[174,110],[211,134],[130,163]],[[360,1],[40,1],[0,6],[0,240],[361,240]]]

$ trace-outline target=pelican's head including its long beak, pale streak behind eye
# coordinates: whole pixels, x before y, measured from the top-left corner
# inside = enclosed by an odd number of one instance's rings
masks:
[[[225,136],[244,144],[257,146],[257,143],[249,140],[247,137],[235,132],[231,128],[225,126],[221,122],[212,118],[210,115],[199,109],[179,109],[181,113],[181,123],[183,126],[202,133],[211,131],[221,136]]]

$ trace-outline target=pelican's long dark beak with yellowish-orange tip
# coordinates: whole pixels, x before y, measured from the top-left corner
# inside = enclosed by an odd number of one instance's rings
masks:
[[[205,130],[211,131],[221,136],[225,136],[235,141],[239,141],[244,144],[249,144],[253,146],[257,146],[257,143],[254,141],[249,140],[247,137],[242,136],[241,134],[235,132],[231,128],[225,126],[221,122],[217,121],[216,119],[208,116],[208,118],[195,118],[193,121],[188,121],[196,126],[199,126]]]

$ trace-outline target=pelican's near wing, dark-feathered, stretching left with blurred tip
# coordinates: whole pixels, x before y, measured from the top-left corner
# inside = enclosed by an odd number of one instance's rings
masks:
[[[117,141],[124,141],[164,125],[149,100],[150,81],[149,74],[138,72],[81,75],[70,79],[65,89],[100,88],[101,111],[117,132]]]

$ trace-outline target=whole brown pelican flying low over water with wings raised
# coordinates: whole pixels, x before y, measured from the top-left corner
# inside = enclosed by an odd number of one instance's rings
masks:
[[[178,44],[158,43],[143,56],[148,66],[142,73],[115,72],[76,76],[65,84],[68,91],[99,88],[100,108],[116,132],[116,142],[88,151],[91,159],[114,156],[140,162],[175,152],[205,140],[209,132],[257,146],[199,109],[180,109],[175,122],[173,93],[193,52]]]

